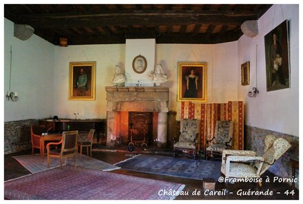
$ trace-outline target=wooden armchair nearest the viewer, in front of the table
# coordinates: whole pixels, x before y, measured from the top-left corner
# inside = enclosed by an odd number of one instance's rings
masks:
[[[78,130],[63,132],[62,140],[59,143],[48,143],[46,149],[48,150],[48,167],[50,167],[50,158],[59,158],[62,167],[62,159],[72,156],[74,158],[74,166],[76,166],[76,152],[77,152],[77,138]],[[61,145],[56,149],[51,149],[52,145]]]

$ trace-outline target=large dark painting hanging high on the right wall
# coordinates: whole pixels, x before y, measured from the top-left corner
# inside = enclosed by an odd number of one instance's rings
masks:
[[[290,88],[289,25],[285,20],[264,37],[267,91]]]

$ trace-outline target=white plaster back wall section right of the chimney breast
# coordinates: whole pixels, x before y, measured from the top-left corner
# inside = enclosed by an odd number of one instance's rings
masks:
[[[163,86],[169,87],[169,110],[177,112],[178,61],[207,62],[207,103],[227,103],[238,100],[238,43],[216,45],[157,44],[156,64],[160,63],[168,75]]]

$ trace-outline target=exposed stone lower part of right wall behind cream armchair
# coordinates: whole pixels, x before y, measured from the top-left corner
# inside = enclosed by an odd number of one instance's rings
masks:
[[[262,156],[262,154],[264,154],[264,138],[268,134],[284,138],[291,144],[291,148],[289,148],[289,150],[287,150],[280,159],[275,161],[275,164],[269,168],[269,172],[272,172],[275,176],[279,176],[280,178],[291,179],[291,162],[289,159],[299,159],[299,137],[245,125],[244,150],[253,150],[257,152],[258,156]],[[296,178],[299,179],[299,172],[297,170]],[[295,186],[298,188],[299,183],[295,183]]]

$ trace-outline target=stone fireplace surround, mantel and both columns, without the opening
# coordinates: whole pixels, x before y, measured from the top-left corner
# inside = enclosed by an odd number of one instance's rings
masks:
[[[158,146],[167,145],[169,88],[105,87],[107,92],[107,145],[120,135],[119,112],[158,112]]]

